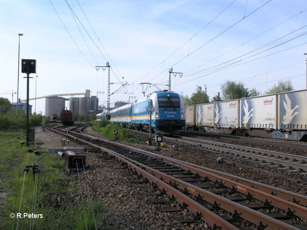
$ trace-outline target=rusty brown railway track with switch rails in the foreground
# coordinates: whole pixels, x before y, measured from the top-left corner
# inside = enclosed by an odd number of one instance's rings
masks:
[[[132,174],[137,174],[136,180],[143,178],[140,182],[150,182],[164,191],[170,200],[178,201],[182,208],[194,213],[195,219],[204,220],[212,229],[239,229],[232,224],[238,220],[243,221],[244,229],[306,227],[280,221],[296,217],[307,219],[305,196],[88,136],[81,130],[57,132],[117,158],[132,170]],[[275,213],[263,212],[269,209],[275,209]]]

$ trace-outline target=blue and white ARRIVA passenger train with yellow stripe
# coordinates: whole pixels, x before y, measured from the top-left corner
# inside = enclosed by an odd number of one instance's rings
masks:
[[[148,112],[151,106],[154,111]],[[96,119],[105,119],[106,110]],[[150,124],[151,114],[151,124]],[[119,123],[126,128],[154,133],[177,134],[185,126],[185,109],[179,94],[168,91],[154,92],[110,111],[111,124]]]

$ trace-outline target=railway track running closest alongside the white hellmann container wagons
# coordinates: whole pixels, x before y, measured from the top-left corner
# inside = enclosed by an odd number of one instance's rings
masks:
[[[240,140],[240,141],[254,143],[254,144],[266,144],[266,145],[270,145],[270,146],[292,148],[292,149],[307,151],[307,144],[301,144],[301,143],[256,139],[256,138],[249,138],[249,137],[243,137],[243,136],[230,136],[230,135],[214,134],[214,133],[207,133],[207,132],[197,132],[197,131],[188,131],[188,130],[182,130],[180,133],[182,133],[182,134],[192,134],[192,135],[198,135],[198,136],[210,136],[210,137],[215,137],[215,138],[218,138],[218,139]]]

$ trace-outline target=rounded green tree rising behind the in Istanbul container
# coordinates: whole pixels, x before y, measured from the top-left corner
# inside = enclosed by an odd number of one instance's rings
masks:
[[[248,88],[244,88],[243,82],[235,82],[232,80],[227,80],[221,85],[221,91],[224,100],[249,97]]]

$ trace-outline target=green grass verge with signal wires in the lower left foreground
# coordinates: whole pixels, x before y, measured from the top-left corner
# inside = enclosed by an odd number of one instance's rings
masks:
[[[25,217],[18,219],[18,229],[86,229],[81,201],[72,198],[79,187],[64,173],[65,161],[45,150],[37,157],[40,173],[33,176],[32,168],[24,172],[25,165],[36,163],[36,155],[28,152],[33,146],[28,148],[15,139],[22,135],[19,132],[0,132],[0,138],[4,140],[0,143],[0,197],[4,197],[0,198],[0,229],[16,229],[17,213]],[[96,223],[101,228],[109,211],[99,199],[93,200],[92,204]],[[84,206],[87,227],[95,229],[89,202]],[[11,218],[11,213],[14,218]],[[37,218],[25,216],[32,213],[37,214]]]

